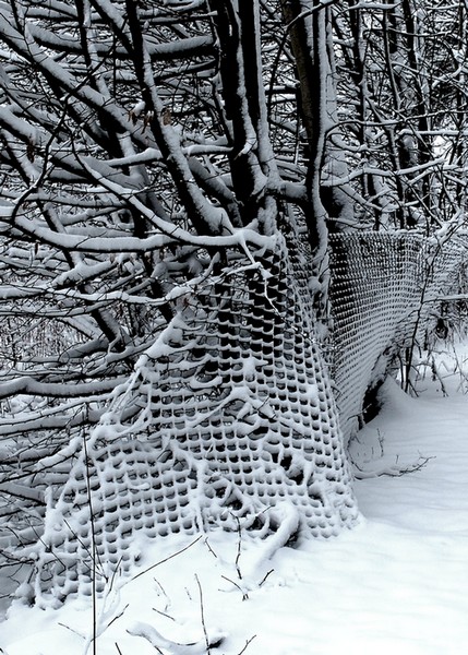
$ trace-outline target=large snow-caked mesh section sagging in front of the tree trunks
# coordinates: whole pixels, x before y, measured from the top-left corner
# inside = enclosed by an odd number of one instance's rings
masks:
[[[132,565],[139,535],[240,525],[284,543],[352,525],[307,260],[292,261],[300,276],[278,237],[257,264],[238,259],[179,299],[99,427],[74,442],[36,551],[36,597],[103,591]]]

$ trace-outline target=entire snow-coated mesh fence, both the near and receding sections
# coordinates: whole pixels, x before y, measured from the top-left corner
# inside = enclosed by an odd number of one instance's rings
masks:
[[[447,284],[465,247],[407,234],[339,235],[332,246],[332,369],[348,438],[367,389],[427,320],[421,299]],[[278,238],[256,261],[238,258],[180,298],[99,426],[68,444],[68,480],[50,477],[29,550],[31,599],[105,591],[143,537],[223,526],[278,547],[355,523],[307,258]]]

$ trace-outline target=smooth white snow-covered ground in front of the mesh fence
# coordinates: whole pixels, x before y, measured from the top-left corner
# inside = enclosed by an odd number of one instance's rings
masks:
[[[242,535],[165,539],[94,608],[83,599],[60,610],[13,605],[0,653],[468,652],[468,396],[455,392],[459,382],[445,380],[448,397],[429,379],[418,398],[385,385],[383,412],[351,445],[363,515],[353,531],[271,559],[267,543]]]

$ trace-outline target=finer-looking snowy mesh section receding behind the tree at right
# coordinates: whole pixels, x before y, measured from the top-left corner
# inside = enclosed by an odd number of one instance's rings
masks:
[[[409,233],[331,235],[332,370],[345,443],[359,427],[367,391],[395,354],[423,346],[436,298],[465,266],[468,236]]]

